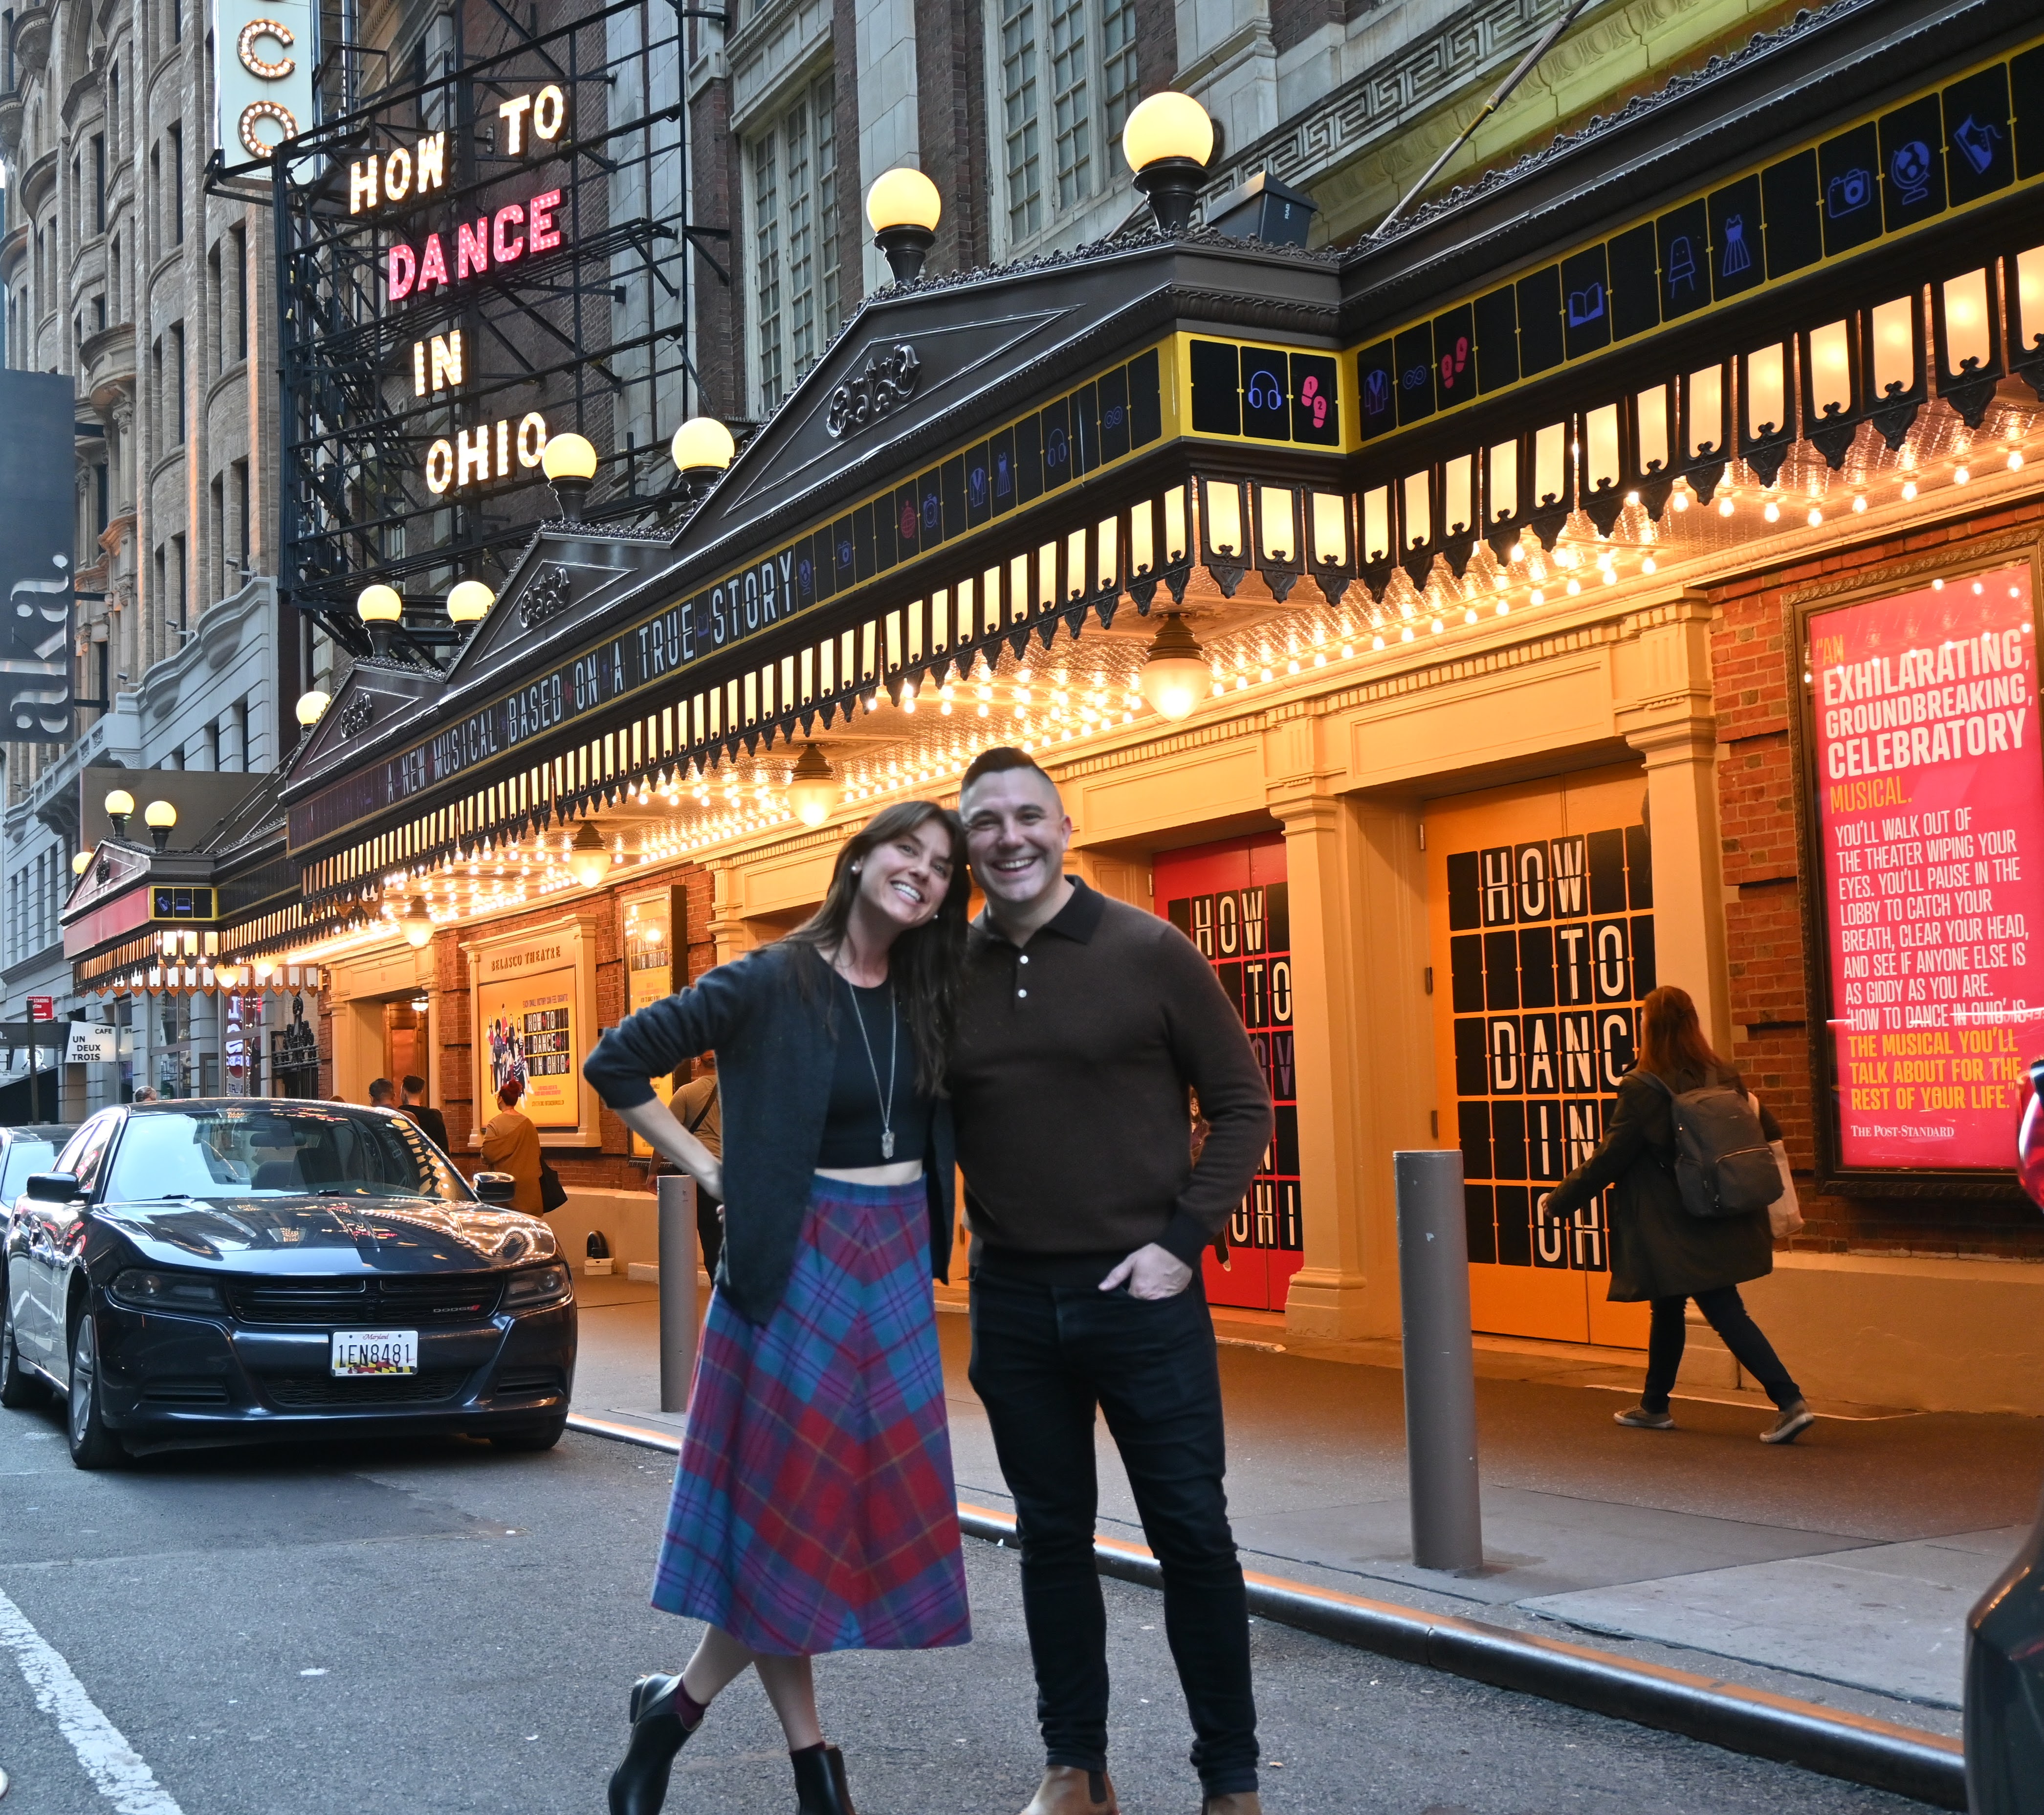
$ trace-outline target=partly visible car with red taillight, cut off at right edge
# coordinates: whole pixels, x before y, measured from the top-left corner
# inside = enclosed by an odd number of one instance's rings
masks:
[[[2044,1059],[2028,1067],[2015,1163],[2044,1204]],[[1966,1619],[1966,1801],[1972,1815],[2044,1809],[2044,1508]]]

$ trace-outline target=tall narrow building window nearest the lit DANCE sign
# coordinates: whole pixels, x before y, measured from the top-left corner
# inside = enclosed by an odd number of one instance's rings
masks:
[[[834,80],[811,82],[746,151],[758,401],[769,411],[838,331]]]

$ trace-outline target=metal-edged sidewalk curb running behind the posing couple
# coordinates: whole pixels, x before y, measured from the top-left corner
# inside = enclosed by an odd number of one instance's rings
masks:
[[[648,1449],[681,1451],[681,1439],[615,1418],[570,1414],[568,1429]],[[1012,1547],[1016,1523],[1006,1512],[959,1502],[959,1529],[967,1537]],[[1149,1549],[1112,1537],[1094,1539],[1102,1576],[1163,1586],[1163,1570]],[[1768,1690],[1748,1688],[1666,1664],[1647,1664],[1457,1619],[1416,1613],[1388,1600],[1365,1600],[1339,1588],[1316,1588],[1284,1576],[1245,1570],[1249,1611],[1278,1625],[1298,1627],[1361,1651],[1423,1664],[1449,1676],[1488,1682],[1566,1703],[1592,1715],[1680,1733],[1727,1752],[1795,1764],[1821,1776],[1844,1778],[1938,1809],[1966,1809],[1966,1762],[1958,1739],[1899,1727],[1868,1715],[1819,1707]]]

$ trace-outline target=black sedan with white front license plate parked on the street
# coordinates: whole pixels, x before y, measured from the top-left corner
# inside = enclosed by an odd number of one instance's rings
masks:
[[[574,1275],[509,1192],[384,1110],[102,1110],[6,1210],[0,1404],[63,1394],[80,1468],[370,1433],[548,1449]]]

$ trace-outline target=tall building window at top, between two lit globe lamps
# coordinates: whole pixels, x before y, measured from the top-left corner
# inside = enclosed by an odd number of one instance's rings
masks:
[[[1022,241],[1112,180],[1102,147],[1136,102],[1134,0],[1002,0],[1000,57],[1008,237]]]

